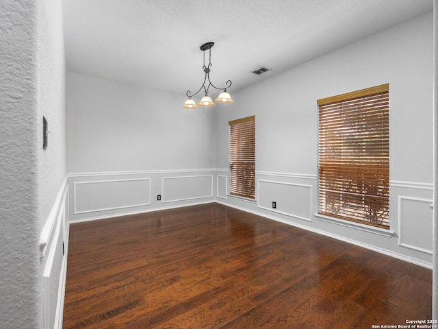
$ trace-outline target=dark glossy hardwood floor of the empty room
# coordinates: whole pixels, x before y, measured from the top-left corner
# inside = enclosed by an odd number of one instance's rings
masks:
[[[76,223],[69,239],[63,328],[344,329],[431,318],[429,269],[220,204]]]

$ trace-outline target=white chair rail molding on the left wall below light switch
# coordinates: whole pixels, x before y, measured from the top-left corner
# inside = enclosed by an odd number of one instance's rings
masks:
[[[47,249],[47,244],[49,243],[50,236],[53,232],[53,227],[55,226],[56,219],[64,212],[66,205],[68,204],[68,176],[64,179],[61,184],[60,191],[57,193],[55,204],[53,205],[49,217],[47,218],[44,227],[42,228],[40,234],[40,257],[44,257]]]

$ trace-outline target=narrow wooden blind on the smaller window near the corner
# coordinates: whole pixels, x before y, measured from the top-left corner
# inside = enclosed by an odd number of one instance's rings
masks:
[[[255,199],[255,116],[229,125],[230,193]]]

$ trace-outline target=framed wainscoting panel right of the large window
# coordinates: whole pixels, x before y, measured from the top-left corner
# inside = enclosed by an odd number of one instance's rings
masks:
[[[426,254],[432,254],[432,199],[398,196],[398,244]]]

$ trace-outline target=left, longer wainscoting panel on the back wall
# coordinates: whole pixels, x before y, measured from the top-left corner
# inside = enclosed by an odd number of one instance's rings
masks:
[[[134,178],[74,182],[73,213],[99,212],[151,204],[151,180]]]

